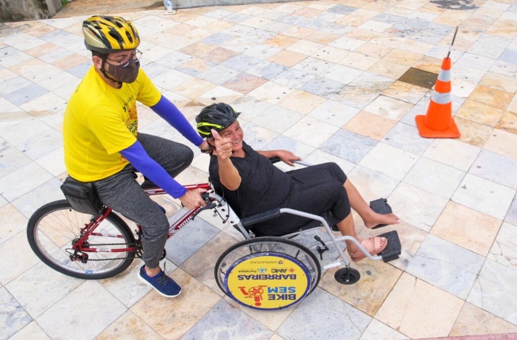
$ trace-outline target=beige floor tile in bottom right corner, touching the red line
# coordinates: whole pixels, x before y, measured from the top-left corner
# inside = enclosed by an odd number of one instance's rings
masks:
[[[517,326],[465,302],[450,336],[517,333]]]

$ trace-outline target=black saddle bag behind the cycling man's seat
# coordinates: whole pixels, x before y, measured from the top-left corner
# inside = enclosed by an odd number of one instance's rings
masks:
[[[73,210],[92,215],[98,215],[102,211],[102,203],[92,182],[80,182],[67,177],[61,191]]]

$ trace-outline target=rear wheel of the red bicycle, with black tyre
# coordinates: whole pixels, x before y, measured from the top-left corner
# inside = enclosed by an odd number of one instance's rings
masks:
[[[45,204],[27,224],[27,239],[32,250],[49,267],[79,279],[105,279],[129,267],[134,251],[110,252],[113,249],[133,248],[135,240],[128,225],[115,213],[99,223],[85,241],[88,248],[101,252],[84,252],[85,261],[74,259],[72,245],[81,238],[92,215],[75,211],[66,200]]]

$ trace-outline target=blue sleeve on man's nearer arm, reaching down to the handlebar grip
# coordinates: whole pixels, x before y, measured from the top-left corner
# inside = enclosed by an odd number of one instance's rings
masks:
[[[157,186],[165,190],[165,192],[172,197],[178,198],[185,195],[187,192],[185,187],[176,182],[160,164],[149,157],[139,141],[134,142],[130,147],[120,151],[120,154],[124,156],[139,172],[157,184]]]

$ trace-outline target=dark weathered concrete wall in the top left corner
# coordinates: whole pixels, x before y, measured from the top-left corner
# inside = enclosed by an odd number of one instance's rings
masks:
[[[0,0],[0,22],[48,19],[60,9],[60,0]]]

